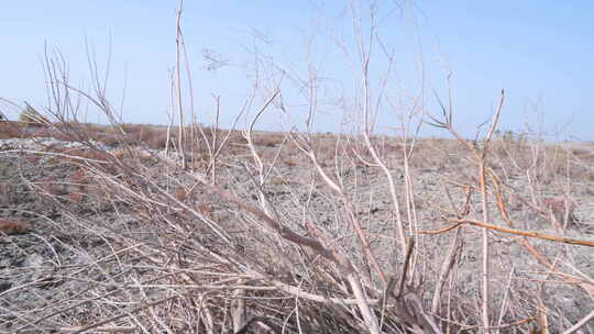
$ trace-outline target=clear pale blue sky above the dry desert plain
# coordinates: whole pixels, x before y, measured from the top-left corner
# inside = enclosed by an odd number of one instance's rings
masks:
[[[425,88],[424,102],[439,112],[431,90],[444,98],[452,74],[454,121],[468,136],[493,112],[506,91],[503,130],[546,132],[558,140],[594,141],[594,2],[592,1],[378,1],[378,33],[395,51],[388,92],[405,101]],[[70,80],[88,86],[85,41],[106,68],[111,40],[108,97],[122,103],[128,122],[167,122],[169,71],[175,64],[175,9],[164,0],[3,1],[0,11],[0,97],[47,105],[44,45],[69,62]],[[261,59],[307,77],[308,59],[323,78],[315,130],[336,131],[343,119],[330,101],[348,99],[360,84],[358,68],[334,43],[352,46],[344,1],[190,1],[183,29],[191,66],[198,116],[209,123],[212,94],[221,97],[221,122],[229,125],[253,87],[253,46]],[[365,20],[364,20],[365,23]],[[255,41],[255,44],[254,44]],[[314,41],[314,43],[309,43]],[[309,44],[308,44],[309,43]],[[308,47],[310,45],[311,47]],[[208,70],[204,49],[228,65]],[[309,51],[309,53],[308,53]],[[374,51],[372,77],[386,62]],[[355,49],[350,49],[354,56]],[[272,64],[271,62],[266,64]],[[265,75],[265,71],[262,71]],[[266,84],[263,80],[262,84]],[[284,85],[290,85],[286,79]],[[376,86],[375,86],[376,87]],[[292,120],[305,120],[302,92],[286,87]],[[293,89],[293,90],[292,90]],[[256,105],[262,101],[256,99]],[[332,105],[334,107],[332,107]],[[352,103],[351,103],[352,105]],[[2,111],[14,116],[14,110]],[[346,108],[349,110],[350,107]],[[352,108],[351,108],[352,109]],[[397,126],[397,114],[382,104],[378,126]],[[348,111],[349,112],[349,111]],[[282,130],[287,120],[268,112],[261,129]],[[94,110],[88,121],[103,121]],[[302,129],[302,127],[301,127]],[[427,134],[435,131],[427,130]]]

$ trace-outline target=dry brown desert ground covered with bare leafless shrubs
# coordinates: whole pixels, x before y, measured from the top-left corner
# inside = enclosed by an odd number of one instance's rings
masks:
[[[0,333],[474,333],[483,272],[493,332],[594,310],[594,143],[0,125]]]

